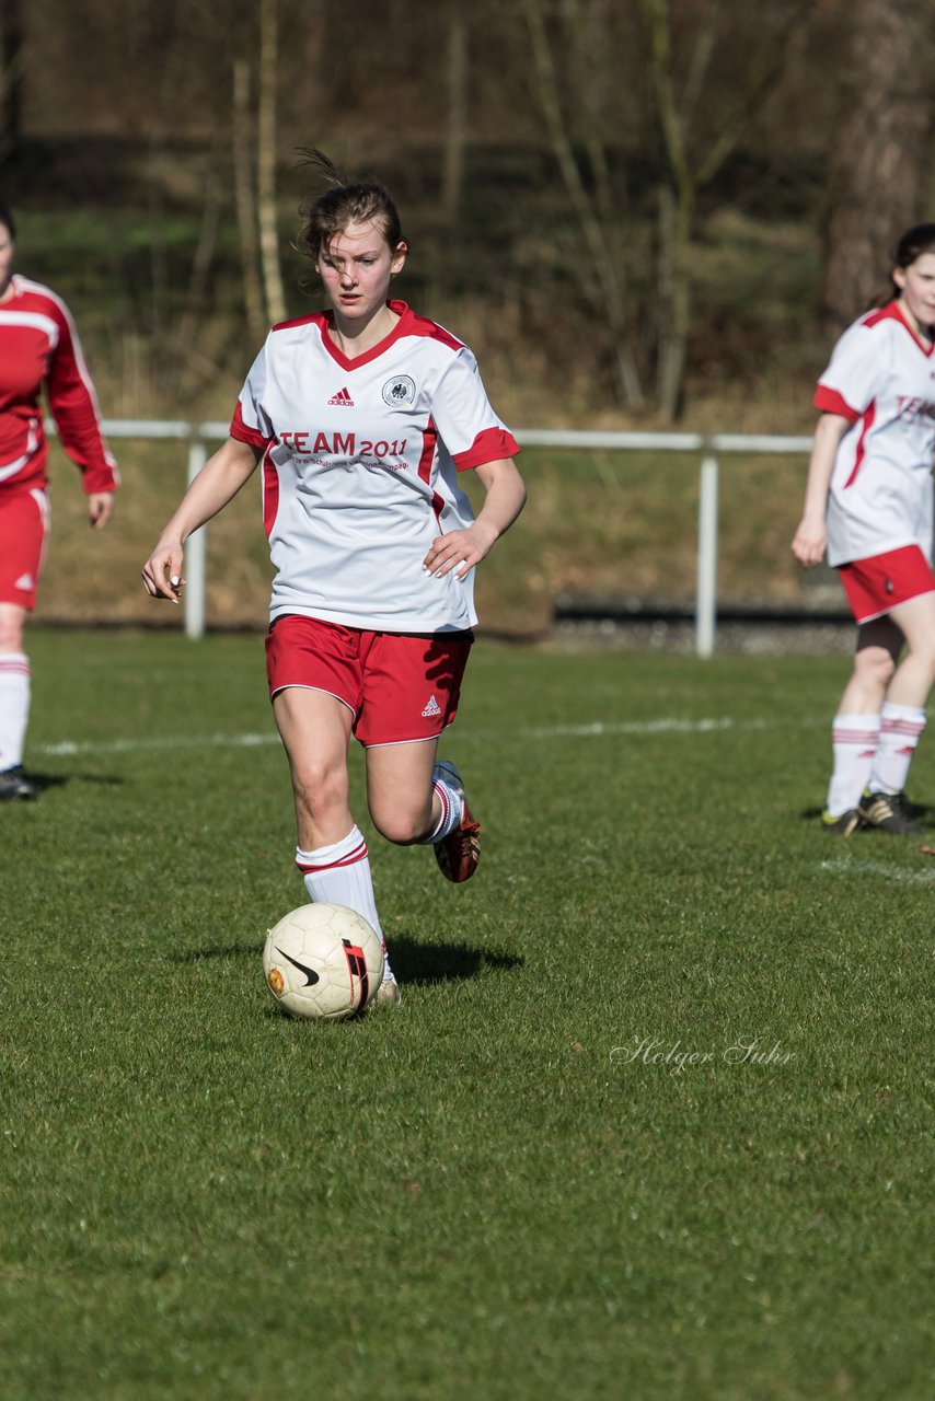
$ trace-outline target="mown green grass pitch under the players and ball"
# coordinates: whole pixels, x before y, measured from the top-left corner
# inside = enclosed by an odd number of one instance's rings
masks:
[[[373,838],[404,1002],[317,1026],[259,637],[31,656],[4,1401],[932,1395],[935,860],[816,831],[844,660],[478,644],[478,876]]]

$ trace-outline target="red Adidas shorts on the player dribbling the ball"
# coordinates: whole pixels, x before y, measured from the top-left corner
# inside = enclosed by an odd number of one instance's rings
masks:
[[[433,740],[454,720],[471,632],[367,632],[287,614],[266,636],[269,695],[327,691],[363,745]]]

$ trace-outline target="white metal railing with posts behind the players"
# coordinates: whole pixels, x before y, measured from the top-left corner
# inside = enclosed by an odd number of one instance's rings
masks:
[[[48,423],[50,433],[55,425]],[[108,437],[174,439],[188,444],[188,481],[207,461],[209,444],[227,437],[227,423],[182,423],[168,420],[108,419]],[[695,653],[709,657],[715,650],[718,623],[718,476],[722,454],[785,455],[809,453],[812,439],[744,433],[613,433],[566,429],[520,429],[520,447],[603,448],[613,453],[690,453],[701,458],[698,479],[698,573],[695,586]],[[206,527],[195,531],[185,545],[185,632],[205,632]]]

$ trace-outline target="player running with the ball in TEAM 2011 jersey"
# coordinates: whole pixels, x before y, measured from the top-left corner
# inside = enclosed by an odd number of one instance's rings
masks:
[[[329,310],[273,326],[231,436],[188,489],[143,569],[178,602],[182,545],[262,464],[276,570],[266,670],[292,769],[296,863],[313,901],[356,909],[383,934],[367,846],[349,806],[348,745],[366,748],[367,803],[400,845],[435,848],[467,880],[479,824],[461,778],[436,762],[477,621],[474,566],[526,499],[519,446],[491,408],[471,352],[388,300],[408,245],[388,192],[349,182],[318,151],[329,189],[301,242]],[[474,469],[477,518],[457,485]],[[378,1002],[398,1002],[390,969]]]

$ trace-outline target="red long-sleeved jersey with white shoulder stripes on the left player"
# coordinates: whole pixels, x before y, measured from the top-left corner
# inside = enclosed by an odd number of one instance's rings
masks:
[[[98,419],[94,385],[69,308],[38,282],[14,275],[0,303],[0,490],[43,488],[48,450],[42,385],[62,444],[81,468],[84,490],[119,482]]]

